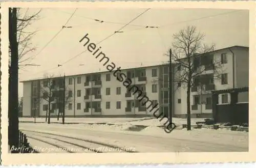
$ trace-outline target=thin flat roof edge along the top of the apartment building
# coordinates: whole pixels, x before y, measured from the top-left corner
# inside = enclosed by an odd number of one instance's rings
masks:
[[[234,47],[249,48],[249,47],[246,47],[246,46],[234,45],[234,46],[230,46],[230,47],[226,47],[226,48],[221,48],[221,49],[217,49],[217,50],[210,51],[210,52],[216,52],[216,51],[220,51],[220,50],[224,50],[224,49],[229,49],[229,48],[234,48]],[[206,53],[210,53],[210,52],[206,52]],[[204,53],[204,54],[205,54],[205,53]],[[200,54],[198,54],[198,55],[200,55]],[[184,59],[185,59],[185,58],[184,58]],[[173,63],[173,64],[176,64],[176,63]],[[121,69],[121,70],[149,68],[149,67],[157,67],[157,66],[163,66],[163,65],[168,65],[168,64],[157,64],[157,65],[150,65],[150,66],[144,66],[144,67],[125,68],[125,69]],[[66,77],[69,77],[69,76],[79,76],[79,75],[90,75],[90,74],[105,73],[105,72],[109,72],[109,71],[101,71],[101,72],[91,72],[91,73],[82,73],[82,74],[75,74],[75,75],[67,75]],[[52,77],[52,79],[54,79],[54,78],[59,78],[59,77],[63,77],[63,76]],[[45,78],[44,78],[44,77],[42,77],[42,78],[34,78],[34,79],[29,79],[29,80],[23,80],[23,81],[20,81],[20,82],[36,81],[36,80],[42,80],[42,79],[45,79]]]

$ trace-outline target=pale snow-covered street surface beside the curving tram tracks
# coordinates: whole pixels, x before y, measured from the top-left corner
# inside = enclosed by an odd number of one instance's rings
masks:
[[[122,127],[125,127],[122,125]],[[46,123],[19,123],[19,129],[33,136],[39,131],[55,135],[64,135],[105,143],[116,147],[134,148],[138,152],[240,152],[248,151],[248,132],[229,130],[198,129],[192,131],[174,130],[164,133],[161,128],[152,127],[139,132],[123,131],[110,126],[88,126],[81,124],[46,124]],[[27,131],[26,131],[27,130]],[[35,132],[34,132],[35,134]],[[47,136],[50,136],[49,134]],[[53,137],[54,135],[51,135]],[[56,138],[56,137],[55,137]],[[36,144],[32,139],[32,146]],[[63,140],[63,139],[62,139]],[[51,140],[54,143],[53,140]],[[65,141],[77,144],[75,139]],[[59,143],[59,142],[55,142]],[[88,142],[79,142],[80,146],[88,147]]]

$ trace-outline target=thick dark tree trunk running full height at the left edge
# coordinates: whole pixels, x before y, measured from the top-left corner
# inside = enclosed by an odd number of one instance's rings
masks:
[[[10,148],[12,153],[19,153],[19,133],[18,133],[18,43],[17,43],[17,9],[9,8],[9,42],[11,49],[11,65],[9,76],[9,133]]]

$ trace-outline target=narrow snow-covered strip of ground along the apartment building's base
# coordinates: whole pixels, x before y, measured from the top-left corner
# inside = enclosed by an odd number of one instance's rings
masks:
[[[66,118],[65,123],[83,123],[83,124],[93,124],[93,123],[108,123],[108,124],[131,124],[131,125],[145,125],[145,126],[162,126],[167,121],[167,119],[161,118]],[[191,124],[196,125],[196,122],[202,122],[204,119],[191,119]],[[34,122],[33,118],[19,118],[19,122]],[[36,122],[45,122],[45,118],[36,118]],[[57,121],[57,118],[51,118],[51,123],[62,123],[62,119]],[[187,119],[173,118],[173,123],[176,126],[187,123]]]

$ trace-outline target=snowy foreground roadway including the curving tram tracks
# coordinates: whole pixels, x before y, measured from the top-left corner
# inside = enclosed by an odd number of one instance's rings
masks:
[[[232,134],[232,142],[226,142],[225,136],[227,133],[220,132],[219,139],[223,141],[210,141],[209,139],[188,138],[189,136],[176,136],[168,134],[164,137],[155,134],[134,134],[132,131],[106,131],[106,130],[89,130],[69,127],[69,124],[51,125],[35,124],[35,123],[20,123],[19,129],[27,134],[29,142],[37,148],[44,147],[44,142],[50,146],[70,149],[79,147],[79,149],[95,149],[102,147],[109,148],[126,148],[132,149],[126,152],[242,152],[248,151],[248,137],[246,134]],[[186,133],[186,130],[177,130]],[[247,134],[248,135],[248,134]],[[205,136],[205,135],[204,135]],[[230,136],[230,135],[229,135]],[[203,137],[203,134],[202,134]],[[247,143],[240,143],[240,140],[247,139]],[[102,144],[103,143],[103,144]],[[86,151],[86,150],[85,150]],[[113,152],[113,150],[107,152]],[[106,152],[101,151],[101,152]],[[54,152],[54,151],[51,151]],[[56,152],[56,151],[55,151]],[[59,151],[58,151],[59,152]],[[77,153],[81,151],[64,150],[62,152]],[[95,152],[93,150],[87,152]],[[98,152],[100,152],[98,150]]]

